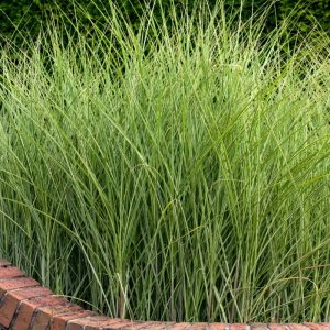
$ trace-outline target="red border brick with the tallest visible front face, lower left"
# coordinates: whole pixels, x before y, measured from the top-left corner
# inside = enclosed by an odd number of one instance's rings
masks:
[[[44,287],[23,288],[7,293],[0,307],[0,323],[9,328],[21,300],[50,294],[52,292]]]

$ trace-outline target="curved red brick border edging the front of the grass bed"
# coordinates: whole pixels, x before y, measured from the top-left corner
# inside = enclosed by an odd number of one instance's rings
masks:
[[[54,295],[0,260],[0,330],[330,330],[330,323],[175,323],[102,317]]]

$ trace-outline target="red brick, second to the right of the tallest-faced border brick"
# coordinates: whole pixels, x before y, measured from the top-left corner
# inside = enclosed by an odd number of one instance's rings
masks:
[[[82,308],[78,305],[68,305],[68,306],[47,306],[40,307],[36,309],[36,315],[33,320],[33,324],[30,330],[46,329],[50,324],[50,321],[53,316],[61,314],[74,314],[81,311]]]

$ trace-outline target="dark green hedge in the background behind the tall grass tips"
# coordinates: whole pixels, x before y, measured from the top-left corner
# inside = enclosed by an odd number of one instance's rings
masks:
[[[217,0],[209,0],[208,3],[212,7]],[[15,35],[21,42],[25,32],[35,36],[40,30],[40,26],[45,20],[52,15],[56,15],[56,12],[63,11],[68,18],[74,19],[78,15],[82,20],[82,24],[89,24],[90,21],[86,20],[86,12],[89,13],[89,18],[98,24],[105,23],[102,15],[100,15],[100,9],[106,13],[109,12],[109,3],[116,4],[122,10],[128,18],[130,18],[133,25],[139,25],[140,15],[144,12],[145,3],[140,0],[77,0],[76,4],[73,1],[67,0],[4,0],[0,3],[0,34],[2,36],[12,37]],[[193,9],[197,3],[196,1],[188,0],[162,0],[156,1],[154,6],[155,16],[161,16],[161,7],[165,12],[168,12],[170,3],[175,4],[176,8],[187,7]],[[268,2],[270,4],[271,2]],[[239,9],[243,4],[242,16],[248,20],[251,15],[267,7],[267,2],[263,0],[224,0],[224,4],[228,12],[233,9]],[[81,14],[81,9],[84,14]],[[330,32],[330,1],[328,0],[306,0],[306,1],[290,1],[280,0],[273,3],[270,7],[268,18],[266,20],[265,31],[271,31],[276,26],[278,21],[284,20],[290,15],[293,20],[297,21],[296,28],[292,33],[302,32],[308,33],[315,23],[318,24],[326,31]],[[294,14],[293,14],[294,12]],[[15,28],[19,28],[20,33],[18,35]]]

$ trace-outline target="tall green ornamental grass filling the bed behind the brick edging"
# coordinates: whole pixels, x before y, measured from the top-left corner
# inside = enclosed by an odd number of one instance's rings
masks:
[[[329,37],[204,9],[1,50],[0,256],[109,316],[329,319]]]

